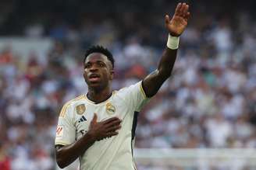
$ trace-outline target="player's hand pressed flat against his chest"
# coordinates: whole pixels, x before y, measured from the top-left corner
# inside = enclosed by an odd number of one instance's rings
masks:
[[[117,135],[117,130],[121,128],[121,122],[118,117],[112,117],[108,120],[97,122],[97,115],[94,113],[94,118],[91,120],[88,133],[91,134],[95,141],[101,141],[107,137]]]

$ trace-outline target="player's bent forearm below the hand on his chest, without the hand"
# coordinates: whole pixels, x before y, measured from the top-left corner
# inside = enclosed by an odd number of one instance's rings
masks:
[[[56,146],[56,161],[60,168],[64,168],[67,165],[71,164],[76,158],[84,154],[85,151],[91,145],[94,144],[94,138],[91,134],[85,134],[84,137],[81,137],[80,140],[69,144],[63,147],[60,145]]]

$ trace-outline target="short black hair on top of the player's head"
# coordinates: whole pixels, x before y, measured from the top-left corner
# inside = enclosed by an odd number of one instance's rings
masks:
[[[105,47],[102,47],[102,46],[91,46],[89,47],[86,52],[85,52],[85,55],[84,55],[84,63],[88,57],[88,55],[92,54],[92,53],[101,53],[101,54],[104,54],[106,57],[108,57],[108,61],[110,61],[112,63],[112,67],[114,68],[114,64],[115,64],[115,60],[111,54],[111,52],[105,48]]]

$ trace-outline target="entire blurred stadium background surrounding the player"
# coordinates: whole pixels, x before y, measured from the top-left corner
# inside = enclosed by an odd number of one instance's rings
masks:
[[[58,169],[56,123],[87,92],[87,47],[112,51],[114,89],[138,82],[157,67],[177,2],[1,0],[0,169]],[[139,116],[137,168],[256,169],[256,2],[185,2],[172,78]]]

